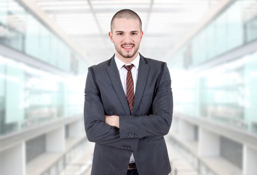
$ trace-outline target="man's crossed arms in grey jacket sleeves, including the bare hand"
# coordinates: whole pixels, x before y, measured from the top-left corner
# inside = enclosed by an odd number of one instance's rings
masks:
[[[106,144],[120,148],[130,145],[136,150],[138,138],[145,136],[165,135],[172,120],[172,91],[170,87],[168,68],[164,66],[159,87],[152,103],[151,115],[104,115],[104,109],[88,68],[85,102],[84,125],[87,139],[99,144]],[[135,133],[134,137],[128,137]]]

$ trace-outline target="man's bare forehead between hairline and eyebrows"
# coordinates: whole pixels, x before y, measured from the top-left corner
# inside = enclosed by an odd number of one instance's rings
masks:
[[[140,30],[140,24],[138,19],[116,18],[113,21],[113,30],[119,31],[133,31]]]

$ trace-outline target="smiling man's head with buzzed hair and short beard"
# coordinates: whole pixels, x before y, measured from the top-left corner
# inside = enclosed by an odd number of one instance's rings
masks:
[[[114,43],[117,57],[132,60],[142,39],[140,17],[130,9],[122,9],[114,14],[110,22],[109,37]],[[126,59],[127,58],[127,59]]]

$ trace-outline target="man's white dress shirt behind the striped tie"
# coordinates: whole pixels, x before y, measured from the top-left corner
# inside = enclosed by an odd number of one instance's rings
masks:
[[[114,56],[114,60],[115,63],[117,65],[118,68],[118,73],[119,73],[119,77],[120,77],[120,81],[124,90],[124,93],[126,95],[126,74],[127,74],[127,70],[125,69],[125,67],[123,67],[123,65],[130,65],[133,64],[134,66],[131,68],[131,74],[132,74],[132,78],[133,78],[133,85],[134,85],[134,93],[135,93],[135,85],[136,85],[136,80],[137,80],[137,74],[138,74],[138,66],[139,66],[139,59],[140,59],[140,55],[137,52],[137,56],[130,62],[130,63],[124,63],[123,61],[121,61],[115,54]],[[135,162],[134,161],[134,156],[133,153],[131,153],[130,156],[130,160],[129,163]]]

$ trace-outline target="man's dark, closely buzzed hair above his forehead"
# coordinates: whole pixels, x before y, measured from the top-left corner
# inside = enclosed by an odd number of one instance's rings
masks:
[[[112,32],[112,26],[113,26],[114,19],[116,19],[116,18],[138,19],[139,25],[140,25],[140,30],[142,30],[142,21],[141,21],[140,17],[138,16],[138,14],[131,9],[121,9],[121,10],[117,11],[111,18],[111,21],[110,21],[111,32]]]

